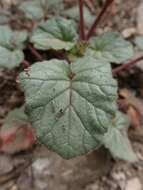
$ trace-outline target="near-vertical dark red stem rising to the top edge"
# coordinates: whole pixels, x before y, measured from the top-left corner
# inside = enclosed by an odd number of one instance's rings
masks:
[[[85,40],[85,31],[84,31],[84,14],[83,14],[83,1],[78,0],[79,2],[79,13],[80,13],[80,40]]]

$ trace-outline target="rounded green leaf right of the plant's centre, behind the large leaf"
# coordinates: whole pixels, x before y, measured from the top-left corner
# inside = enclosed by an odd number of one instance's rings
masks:
[[[107,32],[90,40],[87,54],[110,63],[121,64],[133,56],[133,47],[117,32]]]

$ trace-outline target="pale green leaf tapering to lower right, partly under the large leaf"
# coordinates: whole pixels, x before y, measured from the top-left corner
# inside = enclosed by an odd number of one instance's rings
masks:
[[[114,120],[113,127],[111,127],[104,135],[102,141],[104,146],[109,149],[114,157],[135,162],[137,161],[137,156],[135,155],[128,139],[128,125],[129,122],[127,118],[118,112],[116,119]]]

